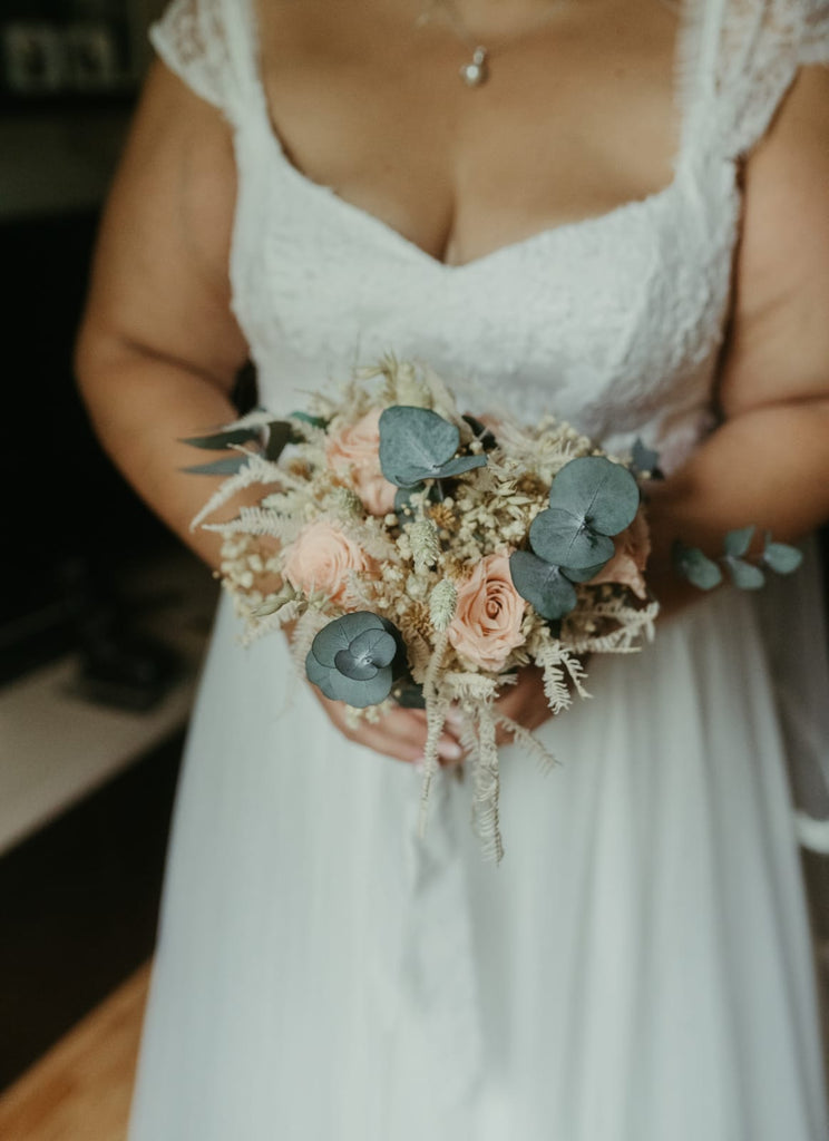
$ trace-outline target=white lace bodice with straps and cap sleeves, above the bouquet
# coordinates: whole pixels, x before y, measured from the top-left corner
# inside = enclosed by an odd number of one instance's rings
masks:
[[[827,0],[686,0],[672,183],[600,217],[446,266],[296,170],[268,114],[252,0],[173,0],[152,32],[221,108],[239,187],[233,304],[277,412],[388,350],[471,411],[553,412],[672,467],[709,422],[739,230],[737,163],[800,63],[829,60]]]

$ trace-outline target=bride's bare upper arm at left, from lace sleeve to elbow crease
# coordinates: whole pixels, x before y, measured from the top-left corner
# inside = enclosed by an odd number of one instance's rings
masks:
[[[235,200],[230,128],[156,63],[104,212],[80,354],[122,343],[228,387],[246,355],[229,308]]]

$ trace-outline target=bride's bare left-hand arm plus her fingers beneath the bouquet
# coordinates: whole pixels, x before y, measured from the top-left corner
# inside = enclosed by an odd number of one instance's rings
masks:
[[[181,472],[194,453],[178,440],[235,419],[230,394],[247,357],[230,310],[235,196],[229,128],[157,64],[105,211],[76,373],[115,464],[212,567],[219,537],[189,524],[220,480]],[[253,502],[257,489],[250,495]],[[237,496],[227,516],[241,503]],[[399,760],[422,753],[417,711],[395,710],[379,726],[352,729],[341,703],[314,693],[349,738]],[[449,734],[440,747],[447,759],[460,754]]]

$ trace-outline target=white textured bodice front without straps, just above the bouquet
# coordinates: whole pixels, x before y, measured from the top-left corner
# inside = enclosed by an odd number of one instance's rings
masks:
[[[604,438],[707,403],[739,213],[733,169],[446,266],[237,139],[237,317],[263,398],[294,406],[387,351],[441,371],[471,408],[555,410]]]

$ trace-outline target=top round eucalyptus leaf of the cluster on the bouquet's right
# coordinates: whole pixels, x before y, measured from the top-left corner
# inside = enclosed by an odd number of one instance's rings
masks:
[[[566,463],[553,479],[550,505],[569,511],[600,535],[618,535],[639,510],[639,485],[621,464],[603,455],[583,455]]]

